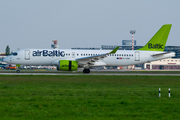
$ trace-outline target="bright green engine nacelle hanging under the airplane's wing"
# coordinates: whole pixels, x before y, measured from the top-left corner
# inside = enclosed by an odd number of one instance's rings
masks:
[[[78,69],[78,62],[72,60],[60,60],[57,70],[62,71],[76,71]]]

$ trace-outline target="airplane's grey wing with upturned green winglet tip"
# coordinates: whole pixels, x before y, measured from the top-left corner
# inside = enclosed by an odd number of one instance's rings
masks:
[[[94,56],[82,57],[82,58],[78,58],[76,60],[78,61],[80,66],[82,66],[82,65],[88,65],[88,66],[94,65],[95,62],[97,62],[98,60],[104,59],[109,54],[115,54],[118,49],[119,49],[119,46],[116,47],[114,50],[112,50],[110,53],[104,53],[104,54],[98,54],[98,55],[94,55]]]

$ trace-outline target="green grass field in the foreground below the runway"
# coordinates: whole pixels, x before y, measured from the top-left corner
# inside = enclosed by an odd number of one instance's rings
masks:
[[[5,120],[180,119],[179,86],[177,76],[1,75],[0,116]]]

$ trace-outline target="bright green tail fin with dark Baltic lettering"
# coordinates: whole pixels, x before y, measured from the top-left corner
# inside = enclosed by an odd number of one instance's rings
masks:
[[[164,51],[171,26],[171,24],[163,25],[151,40],[143,48],[138,50]]]

